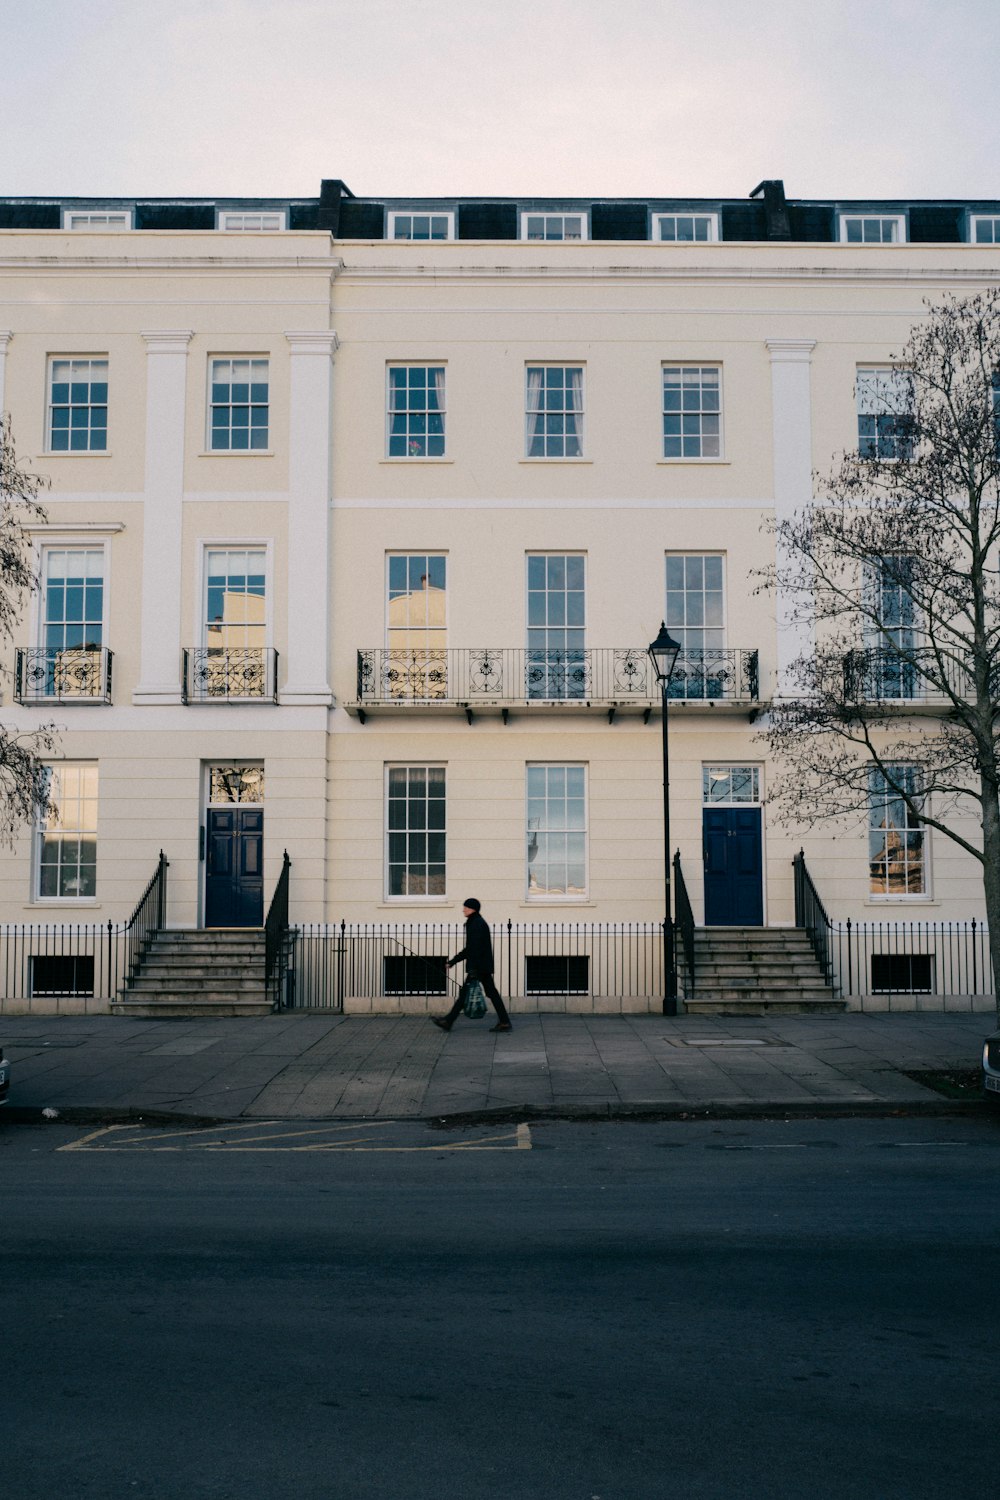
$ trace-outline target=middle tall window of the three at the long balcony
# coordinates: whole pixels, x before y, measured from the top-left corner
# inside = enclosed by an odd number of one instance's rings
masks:
[[[586,698],[582,554],[528,556],[528,698]]]

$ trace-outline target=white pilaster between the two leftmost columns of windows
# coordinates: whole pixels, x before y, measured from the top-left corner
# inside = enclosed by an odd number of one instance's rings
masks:
[[[142,608],[135,704],[180,704],[184,396],[190,332],[144,333],[145,486]],[[192,642],[193,644],[193,642]]]

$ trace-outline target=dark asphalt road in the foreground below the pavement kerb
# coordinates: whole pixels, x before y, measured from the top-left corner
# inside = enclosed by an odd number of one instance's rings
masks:
[[[1000,1122],[0,1128],[10,1500],[996,1492]]]

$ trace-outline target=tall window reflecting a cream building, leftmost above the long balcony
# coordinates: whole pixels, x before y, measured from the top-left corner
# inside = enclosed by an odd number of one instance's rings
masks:
[[[447,558],[390,554],[385,598],[385,688],[390,698],[445,698]]]

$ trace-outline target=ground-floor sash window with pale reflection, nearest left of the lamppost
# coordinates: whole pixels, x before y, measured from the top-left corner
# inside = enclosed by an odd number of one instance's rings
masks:
[[[528,896],[586,896],[586,766],[528,766]]]

